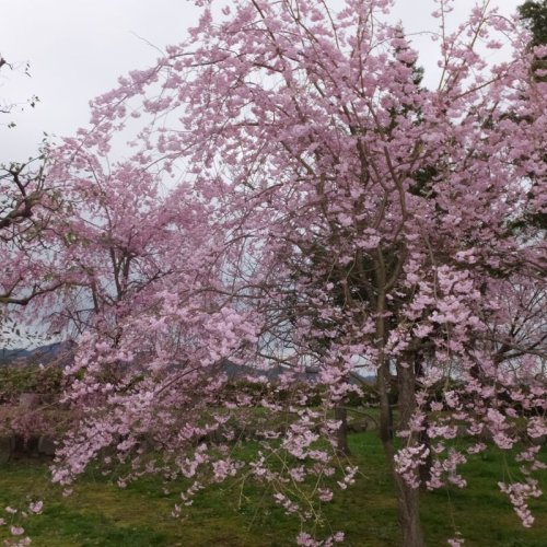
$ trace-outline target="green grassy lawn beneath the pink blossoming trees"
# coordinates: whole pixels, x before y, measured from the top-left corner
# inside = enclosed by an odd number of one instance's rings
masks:
[[[345,545],[350,546],[399,545],[393,482],[380,442],[374,433],[358,433],[351,435],[350,446],[361,475],[325,505],[325,532],[345,531]],[[536,522],[531,529],[523,528],[497,487],[508,473],[517,475],[499,451],[472,456],[463,469],[468,488],[423,494],[428,545],[446,545],[455,529],[462,532],[466,547],[547,545],[547,499],[534,500]],[[546,472],[540,482],[547,490]],[[237,484],[210,487],[196,497],[183,520],[175,520],[171,511],[179,499],[176,486],[165,494],[162,485],[143,479],[121,490],[90,472],[73,494],[63,498],[49,484],[47,466],[15,462],[0,467],[0,508],[24,505],[27,496],[44,499],[44,513],[24,523],[33,545],[44,547],[293,545],[298,522],[286,516],[263,487],[246,485],[244,496]]]

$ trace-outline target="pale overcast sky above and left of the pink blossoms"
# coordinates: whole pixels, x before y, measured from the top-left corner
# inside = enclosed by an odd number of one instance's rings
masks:
[[[341,0],[333,0],[333,4]],[[475,4],[456,0],[453,22]],[[522,0],[491,0],[511,14]],[[394,18],[407,33],[432,27],[433,0],[397,0]],[[190,0],[0,0],[0,54],[14,66],[31,63],[31,78],[0,71],[0,100],[24,102],[37,95],[36,108],[2,115],[0,162],[35,154],[43,131],[69,136],[88,123],[89,100],[116,85],[118,75],[150,66],[154,47],[185,38],[197,22]],[[435,45],[415,38],[426,71]]]

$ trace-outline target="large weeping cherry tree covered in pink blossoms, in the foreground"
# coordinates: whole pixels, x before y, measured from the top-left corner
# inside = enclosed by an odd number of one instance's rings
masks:
[[[185,476],[190,503],[206,480],[243,474],[313,522],[312,499],[354,480],[333,463],[333,409],[368,366],[404,545],[423,545],[419,487],[464,487],[459,466],[487,439],[520,449],[522,477],[499,488],[531,525],[547,432],[545,234],[522,219],[545,213],[546,84],[529,68],[547,49],[488,2],[449,32],[442,0],[431,90],[387,0],[198,3],[188,43],[97,97],[92,128],[54,159],[83,200],[62,253],[92,312],[67,307],[82,330],[67,400],[84,411],[55,479],[109,465],[114,449],[131,462],[123,485]],[[503,44],[507,61],[480,54]],[[135,153],[106,168],[129,130]],[[230,398],[226,360],[281,374]],[[318,408],[299,382],[311,366]],[[256,459],[240,462],[231,420],[257,406],[290,418],[264,423]],[[299,542],[319,545],[304,529]]]

